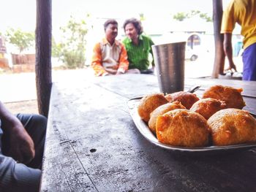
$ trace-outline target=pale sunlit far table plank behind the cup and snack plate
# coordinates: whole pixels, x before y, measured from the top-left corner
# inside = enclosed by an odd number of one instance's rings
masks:
[[[118,80],[116,80],[116,77],[114,76],[108,77],[108,80],[100,77],[95,78],[94,83],[129,99],[143,94],[159,92],[157,76],[151,74],[140,74],[139,76],[136,74],[124,74],[118,77]],[[201,85],[201,90],[206,90],[206,88],[209,88],[212,85],[227,85],[234,88],[244,88],[243,95],[256,96],[256,88],[254,88],[256,86],[255,81],[189,78],[185,80],[184,90],[187,91],[195,85]]]

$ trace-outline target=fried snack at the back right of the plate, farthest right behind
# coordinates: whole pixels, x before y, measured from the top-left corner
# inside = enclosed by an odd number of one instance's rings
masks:
[[[242,88],[236,89],[228,86],[214,85],[203,93],[203,98],[214,98],[225,101],[227,104],[226,108],[241,110],[245,106],[244,99],[241,96],[242,91]]]

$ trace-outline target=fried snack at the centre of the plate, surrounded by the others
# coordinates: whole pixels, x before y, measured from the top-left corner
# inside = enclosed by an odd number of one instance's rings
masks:
[[[200,99],[195,102],[190,108],[192,112],[198,112],[200,115],[203,115],[206,120],[214,115],[215,112],[223,110],[226,107],[225,101],[220,101],[213,98]]]

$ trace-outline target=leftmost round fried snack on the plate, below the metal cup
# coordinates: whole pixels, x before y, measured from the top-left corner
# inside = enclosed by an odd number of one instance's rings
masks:
[[[162,104],[167,104],[167,99],[163,93],[153,93],[147,96],[143,96],[138,105],[138,114],[140,118],[148,122],[150,113]]]

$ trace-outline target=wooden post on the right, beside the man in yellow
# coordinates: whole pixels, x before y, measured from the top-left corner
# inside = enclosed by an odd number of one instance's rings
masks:
[[[225,53],[223,50],[223,34],[220,34],[222,25],[222,0],[213,0],[213,18],[214,18],[214,42],[215,42],[215,57],[214,69],[211,77],[218,78],[219,74],[223,74],[225,65]]]

